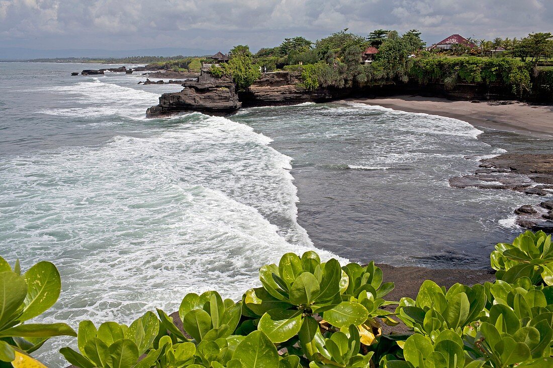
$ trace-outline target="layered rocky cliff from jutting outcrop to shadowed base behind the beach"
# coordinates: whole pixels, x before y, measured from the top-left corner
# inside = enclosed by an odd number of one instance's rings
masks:
[[[455,88],[446,88],[444,83],[394,83],[358,88],[319,88],[308,91],[300,86],[300,73],[278,71],[263,73],[244,91],[236,91],[227,77],[214,77],[202,71],[195,81],[182,83],[184,90],[165,93],[157,106],[150,107],[148,117],[159,117],[184,111],[199,111],[207,114],[228,114],[240,107],[279,106],[304,102],[326,102],[347,97],[394,96],[416,94],[419,96],[444,97],[458,100],[514,99],[500,85],[476,85],[459,83]]]

